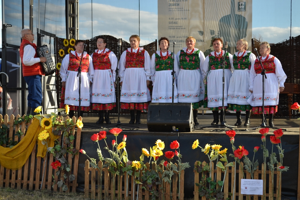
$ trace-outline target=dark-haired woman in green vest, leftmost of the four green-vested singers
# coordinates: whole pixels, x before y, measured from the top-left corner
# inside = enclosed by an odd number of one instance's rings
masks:
[[[173,53],[168,51],[170,42],[167,37],[158,41],[160,51],[156,51],[151,58],[151,80],[153,82],[152,103],[172,103],[173,95]],[[175,56],[176,62],[176,56]],[[179,68],[174,66],[175,77]],[[177,79],[177,78],[176,78]],[[178,102],[176,80],[174,84],[174,103]]]

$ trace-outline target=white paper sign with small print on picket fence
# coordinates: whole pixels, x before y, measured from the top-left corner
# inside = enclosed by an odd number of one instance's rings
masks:
[[[262,195],[262,180],[241,179],[241,194]]]

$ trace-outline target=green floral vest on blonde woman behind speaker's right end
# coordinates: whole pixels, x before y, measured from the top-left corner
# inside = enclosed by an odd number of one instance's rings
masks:
[[[184,50],[180,50],[179,54],[179,68],[183,70],[197,70],[200,66],[199,52],[194,51],[192,54],[188,55]]]

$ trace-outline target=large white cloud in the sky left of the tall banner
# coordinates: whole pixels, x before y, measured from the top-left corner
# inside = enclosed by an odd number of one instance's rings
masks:
[[[91,4],[79,6],[79,38],[91,38]],[[139,34],[139,11],[105,4],[93,3],[93,37],[111,35],[129,42],[129,37]],[[155,41],[158,37],[158,16],[140,11],[140,45]]]

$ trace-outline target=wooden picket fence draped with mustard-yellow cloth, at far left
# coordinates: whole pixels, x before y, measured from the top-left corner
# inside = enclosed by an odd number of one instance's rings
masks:
[[[23,115],[24,118],[25,115]],[[16,119],[18,119],[20,115],[16,116]],[[81,117],[79,117],[80,119]],[[66,119],[69,119],[67,116]],[[75,116],[72,118],[73,122],[76,122]],[[82,118],[81,118],[82,119]],[[0,115],[0,121],[2,121],[2,115]],[[30,125],[32,121],[30,121],[28,124],[25,124],[25,122],[22,122],[19,125],[16,125],[16,128],[14,130],[14,115],[10,116],[10,121],[8,122],[8,115],[4,116],[4,122],[2,124],[5,124],[6,126],[9,126],[9,138],[14,138],[15,141],[20,141],[24,138],[26,134],[26,125]],[[14,133],[18,130],[22,131],[23,134],[20,138]],[[15,132],[14,132],[15,131]],[[75,126],[73,126],[72,132],[73,135],[75,135]],[[76,150],[79,151],[80,147],[80,136],[81,136],[81,129],[77,128],[77,133],[75,135],[76,139]],[[73,141],[74,142],[74,141]],[[73,145],[72,142],[72,145]],[[5,147],[5,145],[3,145]],[[51,163],[53,162],[53,154],[49,154],[49,156],[46,158],[46,156],[43,158],[36,157],[36,150],[38,148],[38,145],[35,145],[35,147],[32,150],[31,156],[27,159],[25,165],[18,170],[10,170],[6,169],[3,166],[0,166],[0,187],[10,187],[12,189],[23,189],[23,190],[40,190],[41,184],[42,184],[42,174],[44,169],[44,162],[46,162],[46,169],[45,169],[45,175],[43,180],[43,186],[42,189],[47,188],[47,190],[52,190],[52,185],[54,184],[52,175],[54,175],[54,178],[57,179],[58,176],[55,172],[58,171],[58,169],[53,170]],[[76,192],[77,184],[77,172],[78,172],[78,163],[79,163],[79,154],[75,155],[72,159],[72,155],[67,155],[68,163],[71,165],[70,169],[72,171],[72,174],[75,175],[75,180],[68,185],[68,190],[66,192]],[[72,165],[73,164],[73,165]],[[73,169],[72,169],[73,166]],[[61,180],[64,180],[64,174],[61,173]],[[29,178],[28,178],[29,177]],[[70,190],[70,187],[72,187],[72,190]],[[57,184],[54,185],[53,191],[58,191]],[[61,192],[62,189],[60,188],[59,191]]]

